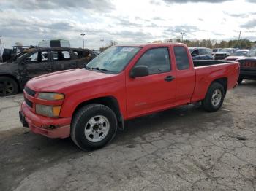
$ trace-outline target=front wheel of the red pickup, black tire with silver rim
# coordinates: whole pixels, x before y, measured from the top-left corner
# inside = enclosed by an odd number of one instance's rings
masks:
[[[113,110],[102,104],[89,104],[75,113],[70,134],[80,149],[94,150],[108,144],[116,136],[117,127]]]

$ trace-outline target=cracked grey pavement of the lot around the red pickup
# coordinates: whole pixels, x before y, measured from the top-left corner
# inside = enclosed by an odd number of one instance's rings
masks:
[[[0,190],[256,190],[256,81],[218,112],[196,104],[129,120],[94,152],[21,128],[22,100],[0,98]]]

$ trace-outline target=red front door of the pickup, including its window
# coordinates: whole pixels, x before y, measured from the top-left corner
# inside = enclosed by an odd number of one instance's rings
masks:
[[[173,103],[176,73],[171,69],[168,47],[147,50],[135,66],[148,66],[146,77],[127,77],[127,117],[162,109]]]

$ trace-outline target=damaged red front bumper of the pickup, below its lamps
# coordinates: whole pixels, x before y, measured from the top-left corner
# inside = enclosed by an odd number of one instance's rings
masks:
[[[23,102],[20,106],[20,122],[32,132],[50,138],[66,138],[70,136],[71,117],[51,118],[34,114]]]

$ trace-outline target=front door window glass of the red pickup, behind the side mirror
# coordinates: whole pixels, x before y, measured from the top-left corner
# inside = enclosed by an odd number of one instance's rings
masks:
[[[146,51],[136,66],[148,66],[149,74],[170,71],[170,58],[167,47],[154,48]]]

